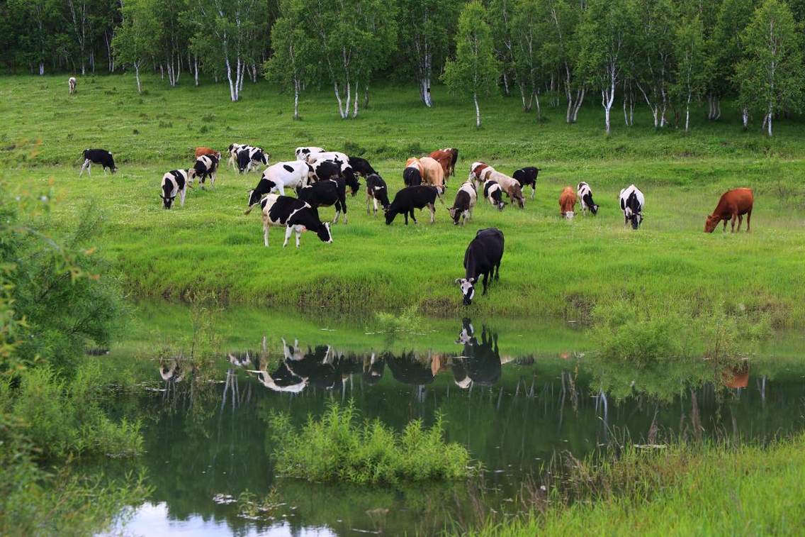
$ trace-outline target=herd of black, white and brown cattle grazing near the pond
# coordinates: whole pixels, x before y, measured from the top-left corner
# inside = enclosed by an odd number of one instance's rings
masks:
[[[263,243],[269,245],[270,227],[285,228],[287,245],[291,235],[296,235],[296,247],[303,231],[313,231],[325,243],[332,243],[330,223],[322,222],[318,208],[334,206],[336,214],[332,223],[337,223],[344,215],[347,223],[346,189],[355,196],[360,189],[358,177],[366,183],[366,212],[378,212],[378,203],[385,213],[386,224],[391,224],[398,214],[403,214],[405,223],[409,216],[416,223],[415,209],[427,207],[431,214],[431,223],[435,222],[436,200],[444,204],[442,195],[447,190],[448,177],[456,174],[458,149],[444,148],[431,152],[429,156],[411,157],[403,169],[405,186],[398,190],[394,199],[389,201],[386,181],[375,171],[369,161],[359,156],[348,156],[343,152],[326,151],[324,148],[300,147],[295,150],[295,160],[278,162],[269,165],[270,154],[262,148],[231,144],[229,160],[238,173],[248,173],[258,166],[266,166],[262,177],[254,189],[250,189],[247,209],[249,214],[255,206],[260,206],[263,223]],[[87,169],[92,173],[92,164],[103,167],[112,173],[117,170],[112,153],[103,149],[86,149],[84,164],[79,177]],[[185,196],[192,183],[198,181],[201,188],[207,184],[215,187],[215,179],[221,164],[221,152],[211,148],[196,148],[196,161],[192,168],[175,169],[163,175],[160,183],[159,197],[165,209],[170,209],[175,198],[179,198],[184,206]],[[506,206],[504,196],[513,206],[525,207],[522,189],[530,186],[531,199],[535,198],[536,182],[539,168],[526,167],[518,169],[512,175],[506,175],[483,162],[473,162],[469,169],[469,177],[456,192],[456,198],[449,213],[454,224],[464,223],[473,216],[479,194],[498,210]],[[294,189],[296,197],[285,195],[286,189]],[[741,230],[743,217],[746,215],[746,231],[752,217],[753,193],[751,189],[734,189],[721,196],[716,210],[713,211],[704,226],[704,231],[712,232],[721,221],[726,230],[727,220],[732,220],[735,231],[736,219],[738,231]],[[573,219],[576,205],[580,203],[583,214],[589,211],[598,213],[598,205],[592,198],[592,189],[586,182],[580,182],[574,189],[565,187],[559,194],[559,213],[565,219]],[[620,206],[624,216],[624,225],[638,229],[643,221],[643,207],[646,198],[635,185],[621,190]],[[464,304],[469,305],[474,296],[474,285],[483,277],[483,293],[486,293],[490,279],[497,280],[503,256],[503,233],[497,228],[482,229],[470,242],[464,254],[464,278],[456,279],[464,297]]]

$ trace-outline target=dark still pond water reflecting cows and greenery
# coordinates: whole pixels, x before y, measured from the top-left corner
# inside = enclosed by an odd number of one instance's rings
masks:
[[[459,321],[449,338],[452,352],[427,343],[345,352],[328,345],[324,331],[296,347],[292,339],[285,346],[255,339],[222,349],[213,373],[204,375],[186,360],[147,361],[142,395],[127,403],[144,419],[147,453],[135,462],[103,463],[109,472],[144,470],[154,487],[148,502],[135,506],[125,533],[427,535],[487,510],[522,509],[524,480],[539,481],[556,452],[581,457],[613,440],[762,443],[805,425],[805,368],[786,365],[796,363],[790,356],[770,354],[717,371],[690,364],[689,378],[679,381],[678,368],[673,379],[656,368],[607,371],[607,364],[573,351],[572,342],[563,352],[512,354],[507,344],[522,349],[522,342],[507,343],[491,326]],[[624,375],[637,380],[631,395],[618,400],[608,383]],[[430,424],[443,414],[448,440],[481,461],[482,478],[383,488],[276,477],[270,412],[285,410],[301,424],[349,399],[363,416],[397,430],[412,418]],[[245,491],[270,496],[275,508],[256,518],[242,512],[233,500]]]

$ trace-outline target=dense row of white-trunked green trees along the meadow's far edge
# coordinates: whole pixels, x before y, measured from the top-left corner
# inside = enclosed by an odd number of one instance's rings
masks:
[[[479,126],[494,90],[537,121],[543,100],[575,123],[600,97],[608,132],[616,106],[627,127],[644,103],[654,127],[687,130],[691,102],[716,120],[729,97],[771,135],[803,104],[803,22],[805,0],[4,0],[0,52],[11,71],[130,69],[138,90],[143,69],[171,86],[201,73],[233,101],[264,75],[294,92],[295,117],[299,94],[332,88],[354,118],[378,77],[425,106],[442,80]]]

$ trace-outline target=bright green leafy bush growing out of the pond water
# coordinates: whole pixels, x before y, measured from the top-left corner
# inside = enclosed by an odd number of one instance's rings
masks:
[[[272,414],[270,426],[277,472],[286,477],[392,484],[462,479],[470,472],[469,452],[444,440],[441,417],[430,429],[416,419],[397,434],[377,419],[359,423],[352,403],[333,403],[301,430],[287,414]]]

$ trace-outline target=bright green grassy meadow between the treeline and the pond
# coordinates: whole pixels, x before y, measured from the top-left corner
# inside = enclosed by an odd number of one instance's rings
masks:
[[[480,227],[506,235],[501,281],[477,296],[474,314],[584,320],[597,305],[630,300],[646,309],[679,307],[696,314],[714,303],[768,315],[778,326],[805,320],[803,224],[805,173],[799,119],[778,122],[773,139],[758,126],[741,131],[738,114],[694,114],[692,132],[657,132],[639,109],[627,129],[617,114],[609,138],[601,106],[585,103],[580,123],[564,123],[564,106],[543,102],[543,123],[520,110],[518,98],[481,102],[484,126],[474,128],[471,102],[434,90],[436,107],[419,104],[415,86],[378,85],[368,109],[344,121],[328,91],[304,94],[301,121],[292,98],[262,82],[246,82],[243,100],[229,102],[224,84],[189,79],[175,89],[146,77],[145,94],[128,76],[83,77],[68,96],[65,77],[0,78],[0,163],[11,189],[52,189],[56,206],[42,227],[76,223],[101,210],[100,255],[134,297],[180,300],[196,293],[254,306],[361,313],[417,306],[421,314],[464,314],[452,281],[463,276],[464,249]],[[387,227],[365,212],[365,191],[349,198],[349,224],[332,227],[333,244],[315,235],[302,248],[282,248],[283,231],[262,246],[259,214],[244,215],[246,190],[259,174],[222,169],[215,189],[192,189],[184,208],[163,210],[159,181],[192,164],[192,150],[222,151],[232,142],[266,148],[271,162],[292,160],[299,145],[320,145],[369,159],[393,194],[403,185],[407,156],[460,149],[458,173],[444,202],[452,205],[469,164],[484,160],[504,172],[537,165],[536,199],[502,213],[479,202],[466,227],[454,227],[437,204],[419,225],[398,218]],[[81,151],[114,152],[119,172],[78,177]],[[601,206],[597,217],[559,218],[564,185],[587,181]],[[645,221],[626,229],[617,194],[630,183],[646,194]],[[703,232],[704,219],[726,189],[755,191],[753,231]],[[530,196],[530,189],[529,189]],[[332,218],[332,208],[320,210]]]

